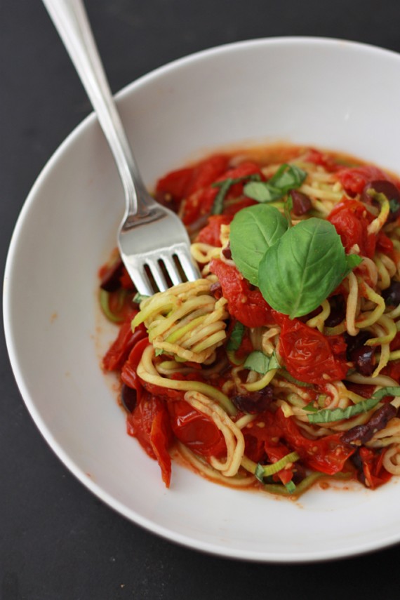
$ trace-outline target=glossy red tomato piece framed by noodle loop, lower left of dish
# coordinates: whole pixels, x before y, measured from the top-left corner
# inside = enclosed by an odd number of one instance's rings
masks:
[[[206,457],[226,455],[224,436],[210,417],[185,400],[168,402],[168,413],[173,434],[187,448]]]

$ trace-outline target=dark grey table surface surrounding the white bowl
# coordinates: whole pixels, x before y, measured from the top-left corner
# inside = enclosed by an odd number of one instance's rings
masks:
[[[170,60],[242,39],[330,36],[400,51],[397,0],[87,0],[86,6],[114,92]],[[30,187],[91,107],[41,1],[0,0],[0,11],[4,268]],[[323,564],[249,564],[179,547],[126,521],[48,447],[15,385],[1,336],[1,600],[399,597],[399,546]]]

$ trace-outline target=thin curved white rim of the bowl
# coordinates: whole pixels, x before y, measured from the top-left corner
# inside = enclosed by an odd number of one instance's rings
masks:
[[[140,76],[138,79],[135,79],[131,83],[121,88],[120,91],[114,94],[114,98],[116,99],[116,103],[118,105],[119,102],[127,98],[132,93],[135,93],[136,89],[140,89],[146,86],[149,82],[159,78],[159,76],[164,76],[164,74],[168,74],[168,72],[171,72],[175,69],[180,69],[180,67],[194,64],[204,59],[212,58],[213,55],[229,53],[231,51],[241,48],[254,48],[255,46],[279,47],[298,44],[309,44],[311,46],[330,46],[331,48],[337,47],[338,45],[345,45],[351,51],[363,51],[371,53],[373,55],[380,54],[382,56],[386,56],[387,58],[391,58],[398,61],[400,65],[399,53],[396,53],[395,51],[389,50],[387,48],[382,48],[380,46],[374,46],[373,44],[367,44],[359,41],[351,41],[347,39],[324,36],[273,36],[268,38],[246,39],[241,41],[229,42],[227,44],[220,44],[218,46],[212,46],[211,48],[196,51],[189,55],[185,55],[182,58],[176,58],[171,62],[167,62],[165,65],[156,67],[151,72]],[[55,149],[55,152],[51,154],[50,158],[46,161],[46,164],[44,164],[44,167],[41,169],[39,175],[36,177],[36,180],[34,181],[34,184],[32,185],[29,194],[27,195],[27,198],[22,204],[22,208],[15,222],[15,226],[11,235],[11,241],[8,247],[6,266],[4,270],[3,323],[8,356],[11,363],[11,368],[13,371],[15,382],[18,385],[18,389],[25,403],[25,406],[27,406],[29,414],[34,420],[34,423],[39,429],[39,432],[44,437],[46,443],[51,447],[55,455],[58,456],[58,458],[65,465],[65,467],[67,467],[69,472],[71,472],[76,477],[76,479],[78,479],[81,482],[81,484],[83,484],[89,491],[91,491],[91,493],[95,494],[97,498],[102,500],[102,502],[105,502],[105,504],[107,504],[108,507],[114,509],[115,512],[118,512],[121,516],[126,517],[126,519],[132,521],[134,524],[145,528],[147,531],[159,535],[161,538],[165,538],[166,540],[175,542],[178,545],[182,545],[191,549],[196,549],[201,552],[206,552],[211,555],[224,556],[225,558],[229,559],[241,559],[246,561],[296,564],[310,561],[326,561],[331,559],[339,559],[344,558],[346,556],[356,556],[359,554],[365,554],[367,552],[372,552],[378,549],[389,547],[399,542],[400,532],[396,535],[393,534],[387,536],[387,538],[385,539],[378,540],[378,542],[362,542],[359,545],[355,544],[352,547],[349,547],[348,549],[342,550],[329,549],[325,554],[322,555],[321,552],[318,552],[317,554],[315,551],[313,552],[312,550],[310,550],[309,552],[302,552],[301,555],[298,552],[289,552],[283,557],[276,556],[271,552],[260,552],[250,550],[241,551],[239,549],[234,549],[232,547],[227,546],[223,548],[218,547],[213,545],[212,542],[194,540],[189,535],[183,535],[181,533],[177,533],[171,530],[166,526],[154,524],[154,522],[150,519],[141,516],[140,514],[136,513],[133,509],[130,509],[126,507],[126,505],[124,505],[122,502],[119,502],[119,500],[116,500],[110,493],[106,492],[101,486],[96,484],[95,481],[88,477],[83,472],[81,467],[79,467],[79,465],[76,462],[74,462],[74,460],[69,458],[69,454],[65,450],[65,448],[63,448],[58,443],[58,441],[56,441],[55,437],[51,432],[51,429],[49,429],[46,426],[44,420],[41,418],[39,410],[36,408],[34,398],[29,392],[29,389],[25,382],[25,376],[22,373],[22,369],[19,364],[18,348],[13,335],[12,319],[10,318],[11,305],[9,289],[12,286],[13,262],[15,259],[15,253],[18,248],[20,230],[22,229],[22,226],[25,222],[30,206],[34,203],[36,197],[38,197],[37,194],[41,188],[42,183],[48,177],[48,173],[51,173],[58,161],[62,160],[66,149],[74,142],[74,140],[76,140],[76,138],[79,138],[81,135],[84,135],[86,129],[91,127],[95,121],[96,116],[94,112],[91,112],[79,124],[77,124],[73,128],[73,130],[67,135],[67,137],[64,140],[62,140],[57,149]]]

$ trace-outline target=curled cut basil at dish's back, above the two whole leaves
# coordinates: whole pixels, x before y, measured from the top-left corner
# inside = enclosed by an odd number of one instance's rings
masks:
[[[244,186],[244,194],[258,202],[273,202],[285,196],[290,189],[302,185],[307,173],[295,165],[283,164],[268,181],[251,182]]]

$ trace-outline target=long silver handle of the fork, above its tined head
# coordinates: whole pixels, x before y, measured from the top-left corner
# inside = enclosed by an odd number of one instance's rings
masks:
[[[43,0],[98,116],[121,176],[126,215],[145,216],[154,206],[147,194],[109,88],[82,0]]]

